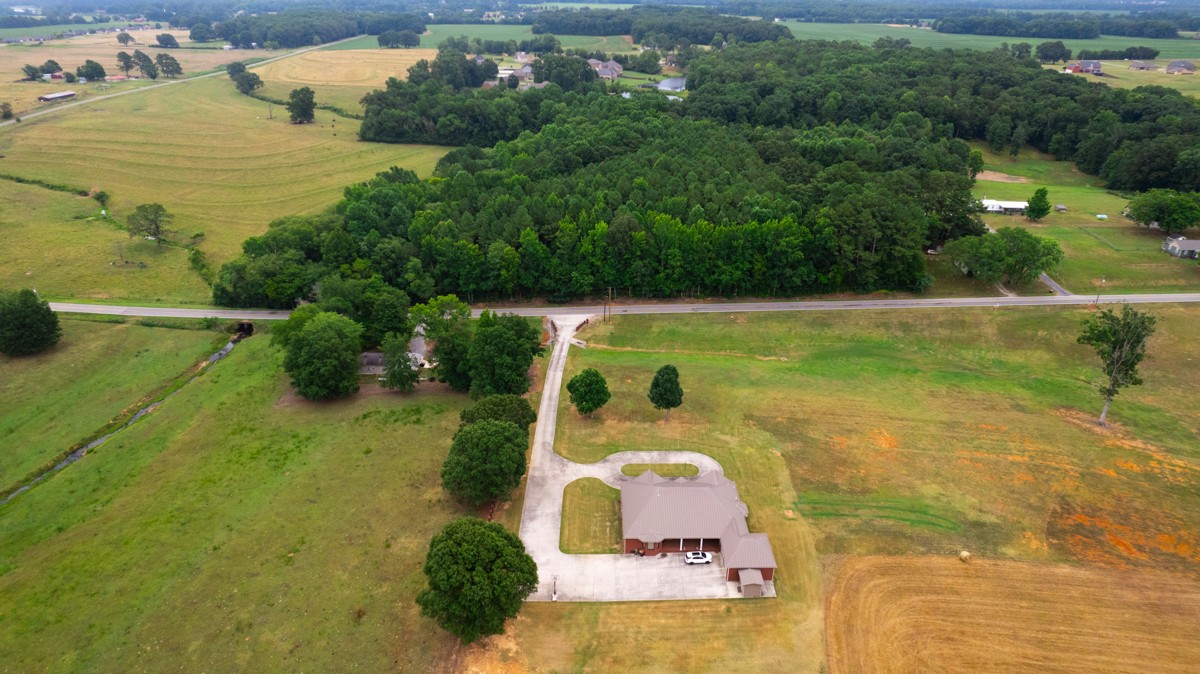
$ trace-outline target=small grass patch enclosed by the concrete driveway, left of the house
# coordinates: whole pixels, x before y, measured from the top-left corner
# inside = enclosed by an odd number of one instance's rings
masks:
[[[619,553],[620,491],[595,477],[568,485],[558,547],[568,554]]]

